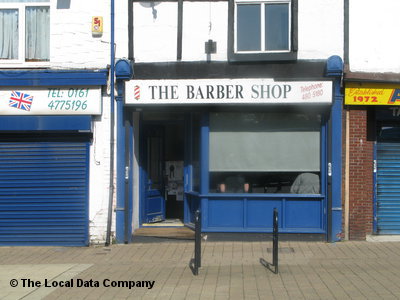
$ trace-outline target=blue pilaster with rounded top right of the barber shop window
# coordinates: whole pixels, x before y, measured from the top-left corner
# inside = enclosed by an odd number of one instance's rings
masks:
[[[333,79],[333,103],[330,118],[330,147],[328,171],[328,241],[342,239],[342,76],[343,61],[339,56],[331,56],[326,64],[327,77]]]

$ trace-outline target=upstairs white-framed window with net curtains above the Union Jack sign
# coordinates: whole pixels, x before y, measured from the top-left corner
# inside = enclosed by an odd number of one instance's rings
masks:
[[[48,61],[50,0],[0,0],[0,62]]]

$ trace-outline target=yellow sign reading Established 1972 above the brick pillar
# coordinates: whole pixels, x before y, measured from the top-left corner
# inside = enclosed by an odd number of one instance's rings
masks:
[[[400,105],[400,85],[347,83],[346,105]]]

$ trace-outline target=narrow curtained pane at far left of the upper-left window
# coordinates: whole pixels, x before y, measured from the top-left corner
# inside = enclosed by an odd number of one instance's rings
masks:
[[[18,10],[0,10],[0,59],[18,59]]]

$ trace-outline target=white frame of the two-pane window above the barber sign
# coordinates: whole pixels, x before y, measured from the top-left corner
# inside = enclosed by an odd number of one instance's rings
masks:
[[[237,5],[240,4],[259,4],[261,5],[261,45],[259,51],[238,51],[237,50]],[[266,4],[288,4],[289,6],[289,16],[288,16],[288,45],[289,49],[287,50],[265,50],[265,5]],[[257,54],[257,53],[289,53],[292,48],[292,9],[291,9],[292,0],[235,0],[235,19],[234,19],[234,53],[248,53],[248,54]]]

